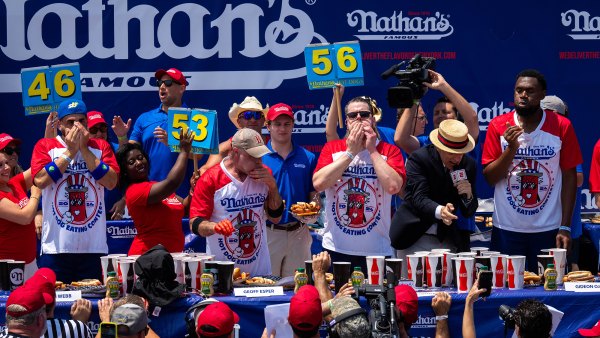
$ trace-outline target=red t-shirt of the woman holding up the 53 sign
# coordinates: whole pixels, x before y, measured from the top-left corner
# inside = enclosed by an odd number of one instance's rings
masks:
[[[138,232],[129,248],[130,255],[141,255],[156,244],[164,245],[169,252],[183,251],[183,204],[173,193],[160,203],[148,205],[150,188],[155,183],[135,183],[125,193],[125,203]]]

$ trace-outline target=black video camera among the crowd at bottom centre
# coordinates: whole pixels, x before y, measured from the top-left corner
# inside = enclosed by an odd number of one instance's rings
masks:
[[[398,325],[403,325],[402,311],[396,311],[396,291],[398,284],[396,275],[388,272],[383,280],[383,286],[366,284],[354,287],[355,299],[360,296],[367,298],[371,306],[369,312],[369,325],[373,338],[400,337]]]

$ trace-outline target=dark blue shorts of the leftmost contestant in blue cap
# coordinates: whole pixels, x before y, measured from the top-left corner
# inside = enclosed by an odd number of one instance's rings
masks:
[[[63,283],[86,278],[102,281],[100,256],[104,254],[43,254],[38,258],[38,267],[52,269],[56,280]]]

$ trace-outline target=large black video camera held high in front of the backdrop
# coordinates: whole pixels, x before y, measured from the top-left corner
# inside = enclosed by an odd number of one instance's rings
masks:
[[[381,73],[384,80],[392,75],[399,80],[396,87],[388,89],[387,100],[392,108],[410,108],[414,100],[423,98],[423,82],[431,83],[429,70],[435,70],[435,58],[422,57],[421,54],[416,54],[408,61],[406,68],[400,69],[405,64],[407,62],[402,61]]]

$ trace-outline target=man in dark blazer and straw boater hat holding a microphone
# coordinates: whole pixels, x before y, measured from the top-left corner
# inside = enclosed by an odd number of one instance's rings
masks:
[[[475,160],[464,156],[475,146],[467,126],[444,120],[429,134],[430,145],[406,161],[404,202],[392,219],[390,238],[398,257],[415,251],[469,250],[469,233],[456,227],[456,210],[477,210]]]

